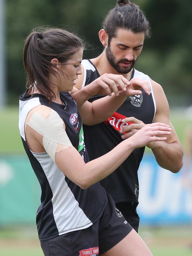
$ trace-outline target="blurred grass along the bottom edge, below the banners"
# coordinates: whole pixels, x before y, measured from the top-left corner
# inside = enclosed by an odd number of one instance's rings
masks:
[[[140,227],[154,256],[191,256],[191,227]],[[43,256],[36,227],[0,229],[1,256]]]

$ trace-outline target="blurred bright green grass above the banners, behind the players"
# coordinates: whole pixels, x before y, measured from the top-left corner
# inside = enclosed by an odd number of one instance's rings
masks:
[[[24,153],[23,145],[19,135],[18,120],[19,110],[18,107],[9,107],[0,111],[0,129],[1,129],[1,153]],[[175,127],[181,144],[183,144],[183,138],[185,134],[185,127],[192,124],[192,119],[187,119],[186,116],[181,113],[171,113],[170,120]],[[150,152],[149,149],[146,150]]]

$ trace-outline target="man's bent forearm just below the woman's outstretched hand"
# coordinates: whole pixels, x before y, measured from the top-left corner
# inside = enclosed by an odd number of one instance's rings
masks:
[[[164,169],[177,173],[183,166],[183,150],[179,142],[153,142],[150,147],[157,163]]]

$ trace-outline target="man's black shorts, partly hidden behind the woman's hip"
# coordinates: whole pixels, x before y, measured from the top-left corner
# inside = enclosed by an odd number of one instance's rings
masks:
[[[117,208],[123,214],[123,217],[138,233],[139,229],[139,215],[137,214],[136,208],[133,207],[131,202],[120,202],[116,203]]]

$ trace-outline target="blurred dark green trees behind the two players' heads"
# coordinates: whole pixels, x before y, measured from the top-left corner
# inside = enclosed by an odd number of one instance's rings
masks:
[[[159,82],[171,106],[192,104],[192,1],[135,0],[152,29],[145,40],[136,69]],[[25,90],[22,64],[24,41],[38,26],[65,27],[89,43],[84,58],[102,52],[98,38],[101,22],[115,0],[7,0],[6,67],[8,104],[17,104]]]

